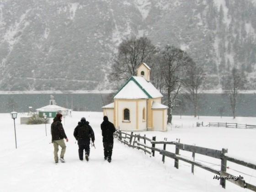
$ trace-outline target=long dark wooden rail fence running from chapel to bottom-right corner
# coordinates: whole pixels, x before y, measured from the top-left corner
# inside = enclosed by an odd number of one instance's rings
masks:
[[[174,167],[176,167],[177,169],[179,168],[179,160],[181,160],[192,165],[191,171],[193,174],[194,174],[194,166],[198,166],[204,170],[210,171],[216,174],[216,177],[218,176],[218,180],[220,179],[220,185],[223,188],[225,188],[226,180],[227,180],[240,187],[247,188],[256,192],[256,186],[245,182],[245,180],[243,180],[243,177],[233,176],[227,172],[227,161],[230,161],[235,164],[239,164],[254,170],[256,170],[256,165],[247,163],[242,160],[237,160],[225,155],[225,153],[228,152],[227,149],[215,150],[215,149],[208,149],[204,147],[197,147],[194,145],[181,144],[179,140],[178,142],[166,141],[166,139],[164,141],[156,141],[156,137],[152,137],[152,139],[149,139],[146,137],[146,135],[141,136],[140,134],[133,134],[133,132],[130,132],[130,133],[123,132],[121,130],[117,130],[117,132],[115,133],[115,137],[118,138],[118,140],[121,141],[123,144],[126,144],[129,147],[132,147],[135,149],[141,149],[145,153],[148,153],[152,156],[155,156],[155,152],[159,152],[160,155],[162,155],[163,163],[165,163],[165,157],[174,159]],[[156,145],[160,145],[160,144],[163,145],[161,149],[159,147],[158,148],[156,147]],[[170,144],[175,145],[175,153],[165,150],[166,145],[170,145]],[[190,158],[181,156],[180,150],[192,152],[193,160],[191,160]],[[219,159],[221,161],[220,170],[213,169],[208,165],[203,165],[201,162],[196,161],[195,154],[206,155],[208,157]]]

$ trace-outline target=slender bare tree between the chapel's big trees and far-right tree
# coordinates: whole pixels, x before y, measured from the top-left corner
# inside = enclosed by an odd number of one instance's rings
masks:
[[[188,101],[192,102],[194,117],[197,117],[198,114],[198,107],[201,97],[200,91],[204,78],[205,74],[202,67],[197,66],[195,63],[187,67],[185,96]]]

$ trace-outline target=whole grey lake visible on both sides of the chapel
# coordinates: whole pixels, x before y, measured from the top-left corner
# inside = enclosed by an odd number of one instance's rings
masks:
[[[49,105],[50,95],[51,94],[2,94],[0,95],[0,113],[8,113],[11,111],[28,112],[28,107],[32,107],[32,111],[35,112],[37,108]],[[111,102],[107,101],[108,94],[61,93],[53,95],[58,106],[71,109],[73,105],[75,111],[102,112],[101,107]],[[164,99],[162,99],[162,101],[164,101]],[[202,107],[199,108],[199,116],[220,116],[218,112],[220,107],[224,107],[223,116],[232,116],[228,98],[221,94],[203,94],[201,103]],[[193,115],[192,106],[187,106],[186,110],[181,112],[181,114]],[[173,115],[180,115],[180,111],[177,108],[174,109]],[[239,95],[236,116],[256,117],[256,94]]]

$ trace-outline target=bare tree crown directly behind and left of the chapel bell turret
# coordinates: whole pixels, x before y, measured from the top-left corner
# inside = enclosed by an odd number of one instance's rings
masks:
[[[117,84],[119,81],[128,80],[132,75],[136,75],[139,64],[149,63],[155,53],[156,48],[147,37],[123,40],[118,47],[108,79]]]

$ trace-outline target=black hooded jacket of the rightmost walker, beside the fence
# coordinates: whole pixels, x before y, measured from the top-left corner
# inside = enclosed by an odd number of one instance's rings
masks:
[[[116,128],[113,123],[109,122],[107,119],[105,119],[101,123],[101,131],[102,131],[102,142],[114,142],[113,133],[115,133]]]

